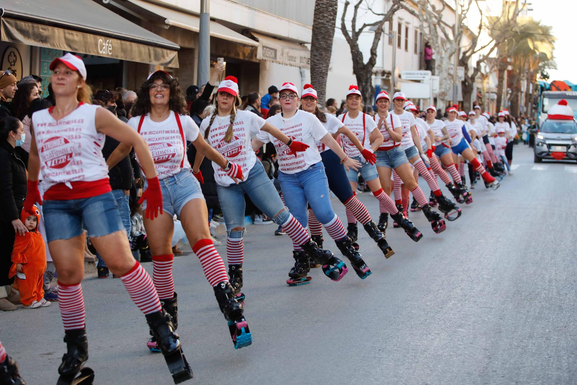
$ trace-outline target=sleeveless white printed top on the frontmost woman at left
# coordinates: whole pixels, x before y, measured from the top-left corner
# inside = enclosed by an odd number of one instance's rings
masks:
[[[96,131],[98,108],[81,103],[58,121],[50,114],[51,109],[32,115],[44,191],[58,183],[72,188],[70,182],[108,179],[108,167],[102,156],[106,135]]]

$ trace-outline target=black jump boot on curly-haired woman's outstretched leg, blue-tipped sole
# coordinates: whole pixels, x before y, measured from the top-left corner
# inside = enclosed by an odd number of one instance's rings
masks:
[[[233,287],[230,286],[230,283],[223,281],[219,282],[213,289],[220,311],[228,321],[228,330],[233,339],[234,349],[241,349],[241,347],[252,344],[252,334],[250,334],[249,326],[242,315],[244,311],[242,305],[234,299]]]

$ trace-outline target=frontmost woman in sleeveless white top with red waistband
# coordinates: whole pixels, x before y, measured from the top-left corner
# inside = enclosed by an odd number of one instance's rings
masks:
[[[91,370],[83,368],[88,360],[80,285],[87,234],[84,229],[108,268],[120,276],[130,297],[145,314],[173,378],[192,378],[171,317],[162,309],[150,276],[132,256],[100,150],[105,135],[129,148],[134,146],[149,180],[149,188],[144,191],[141,201],[147,199],[151,212],[158,213],[158,209],[162,210],[162,193],[148,147],[113,114],[88,104],[87,72],[80,57],[67,53],[55,59],[50,69],[57,105],[32,115],[28,195],[24,209],[32,212],[33,203],[44,203],[46,235],[58,271],[58,304],[68,347],[58,368],[61,380],[72,382],[78,372],[93,376]],[[38,191],[40,168],[44,202]]]

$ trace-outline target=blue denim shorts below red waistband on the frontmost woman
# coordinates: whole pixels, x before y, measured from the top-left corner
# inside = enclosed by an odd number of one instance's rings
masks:
[[[81,235],[103,236],[124,231],[118,204],[109,192],[91,198],[44,201],[42,205],[47,242]]]

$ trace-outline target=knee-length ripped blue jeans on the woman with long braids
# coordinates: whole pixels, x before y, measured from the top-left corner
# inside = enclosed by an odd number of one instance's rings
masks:
[[[227,187],[217,184],[216,191],[228,238],[242,238],[246,232],[245,229],[233,231],[233,228],[244,227],[245,225],[244,194],[248,195],[253,204],[267,217],[272,218],[276,224],[285,223],[290,216],[288,210],[285,210],[272,180],[269,179],[264,171],[263,164],[258,160],[254,163],[253,168],[250,169],[246,180],[239,184],[230,184]]]

